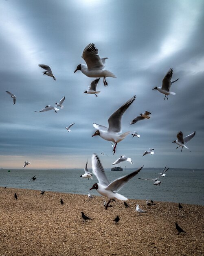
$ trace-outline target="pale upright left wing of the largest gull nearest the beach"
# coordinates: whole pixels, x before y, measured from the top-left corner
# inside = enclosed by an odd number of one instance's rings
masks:
[[[109,181],[105,175],[105,171],[103,169],[103,166],[99,160],[99,157],[97,154],[93,154],[91,157],[91,163],[92,163],[92,172],[97,177],[99,184],[103,186],[108,186]]]

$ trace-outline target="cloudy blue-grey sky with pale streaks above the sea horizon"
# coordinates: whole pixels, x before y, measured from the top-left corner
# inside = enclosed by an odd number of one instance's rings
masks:
[[[0,167],[83,168],[92,153],[105,168],[121,155],[122,167],[204,168],[204,1],[202,0],[2,0],[0,1]],[[83,49],[94,43],[106,69],[94,94],[83,94],[92,78],[74,71]],[[56,77],[45,76],[49,65]],[[174,83],[164,94],[152,90],[173,68]],[[13,105],[11,97],[16,95]],[[109,141],[91,137],[93,123],[107,126],[112,113],[136,95],[122,118],[128,135],[112,155]],[[64,109],[37,113],[65,96]],[[151,112],[149,120],[129,122]],[[72,131],[64,128],[71,123]],[[189,150],[172,141],[196,131]],[[153,156],[143,152],[155,148]],[[191,150],[191,152],[190,152]]]

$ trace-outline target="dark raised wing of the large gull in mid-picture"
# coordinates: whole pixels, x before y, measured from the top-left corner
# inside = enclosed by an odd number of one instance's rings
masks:
[[[120,108],[118,108],[108,119],[108,131],[112,132],[121,132],[121,118],[127,110],[127,108],[133,103],[133,101],[136,99],[136,96],[134,95],[131,99],[129,99],[125,104],[123,104]]]

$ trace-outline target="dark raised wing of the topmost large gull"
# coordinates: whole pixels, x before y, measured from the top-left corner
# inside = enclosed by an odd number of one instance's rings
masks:
[[[103,61],[98,55],[98,49],[93,43],[86,46],[81,57],[86,61],[88,70],[103,69],[104,67]]]

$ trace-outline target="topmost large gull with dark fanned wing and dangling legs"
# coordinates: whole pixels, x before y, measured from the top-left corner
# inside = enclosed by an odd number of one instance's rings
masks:
[[[86,48],[83,50],[83,54],[81,57],[84,59],[84,61],[86,61],[86,65],[79,64],[75,72],[77,70],[81,70],[81,72],[88,77],[103,77],[103,83],[105,86],[107,85],[105,77],[116,78],[116,76],[110,71],[103,70],[103,68],[105,67],[105,60],[107,58],[99,57],[98,49],[93,43],[90,43],[86,46]]]

